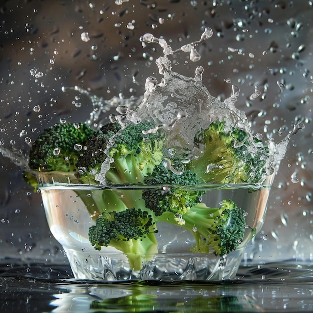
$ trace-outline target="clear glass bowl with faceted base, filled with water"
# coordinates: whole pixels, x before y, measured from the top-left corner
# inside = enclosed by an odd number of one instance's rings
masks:
[[[207,207],[218,207],[222,200],[231,199],[245,213],[245,233],[235,251],[217,256],[193,253],[193,234],[179,225],[158,222],[155,234],[157,248],[150,254],[138,255],[140,268],[134,268],[121,251],[113,247],[96,250],[89,241],[89,228],[102,214],[103,201],[114,192],[118,201],[140,201],[138,194],[156,186],[100,187],[95,182],[81,184],[73,173],[38,173],[46,218],[56,240],[63,246],[71,269],[77,279],[104,281],[127,280],[222,280],[234,278],[244,249],[261,229],[266,214],[267,200],[275,174],[261,186],[251,184],[211,185],[202,202]],[[186,186],[184,186],[186,188]],[[194,188],[194,187],[190,187]],[[106,201],[107,202],[107,201]],[[105,203],[106,203],[105,202]],[[116,203],[106,203],[105,209],[114,210]],[[196,226],[196,225],[195,225]]]

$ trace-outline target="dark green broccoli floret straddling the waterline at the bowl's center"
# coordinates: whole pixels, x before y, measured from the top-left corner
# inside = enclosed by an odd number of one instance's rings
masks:
[[[152,210],[156,216],[165,212],[173,212],[179,225],[184,223],[182,216],[190,207],[202,201],[201,190],[192,190],[190,186],[197,186],[200,180],[195,173],[185,169],[180,175],[168,170],[163,163],[154,167],[144,183],[146,185],[160,185],[143,192],[142,198],[145,206]],[[183,188],[183,186],[188,186]]]

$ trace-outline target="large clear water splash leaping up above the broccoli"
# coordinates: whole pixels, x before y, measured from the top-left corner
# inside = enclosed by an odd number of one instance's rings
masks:
[[[157,38],[150,33],[140,37],[143,46],[156,43],[163,48],[163,56],[155,62],[162,79],[158,82],[156,77],[148,77],[145,82],[145,93],[138,107],[135,110],[130,110],[127,107],[118,106],[117,111],[120,114],[112,116],[112,118],[122,125],[122,129],[127,127],[129,123],[139,123],[140,121],[150,122],[155,125],[146,133],[156,132],[162,128],[166,132],[166,144],[163,152],[167,159],[167,166],[178,174],[183,171],[183,164],[199,157],[202,153],[203,147],[194,143],[196,134],[201,129],[207,129],[216,120],[225,121],[226,131],[234,127],[244,129],[247,132],[247,141],[240,143],[241,145],[245,144],[248,151],[254,153],[254,155],[257,153],[263,155],[263,160],[267,161],[266,174],[263,175],[265,180],[266,175],[272,174],[276,164],[284,158],[291,136],[297,133],[299,129],[302,129],[304,124],[298,121],[291,133],[277,144],[271,141],[268,144],[269,152],[265,152],[264,145],[261,142],[256,143],[254,141],[256,136],[252,134],[245,113],[235,107],[240,94],[238,86],[232,85],[230,97],[222,102],[212,96],[203,85],[203,67],[198,66],[196,68],[194,78],[172,71],[171,61],[168,58],[170,55],[178,52],[190,53],[190,60],[197,61],[200,59],[200,55],[195,47],[210,38],[212,34],[212,30],[206,28],[200,40],[183,45],[176,50],[173,50],[165,39]],[[260,94],[261,92],[256,85],[250,99],[254,100]],[[117,133],[117,135],[119,134]],[[260,136],[261,134],[257,134],[257,138],[260,138]],[[114,144],[114,137],[109,144],[110,146]],[[101,172],[96,176],[96,180],[101,184],[105,184],[105,174],[109,169],[109,163],[113,161],[109,157],[107,159],[102,164]],[[207,170],[211,170],[214,165],[208,164]]]

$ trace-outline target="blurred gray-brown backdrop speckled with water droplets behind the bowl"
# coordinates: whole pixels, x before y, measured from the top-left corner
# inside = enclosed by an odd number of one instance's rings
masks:
[[[238,85],[237,108],[246,112],[255,132],[276,142],[296,120],[305,124],[292,137],[265,225],[245,260],[312,260],[312,5],[309,0],[130,0],[122,5],[2,0],[0,148],[27,153],[26,141],[60,118],[85,121],[90,99],[73,90],[64,93],[62,86],[77,85],[104,99],[142,95],[140,84],[148,76],[159,77],[154,62],[162,55],[158,45],[142,47],[144,33],[163,36],[176,49],[210,27],[214,35],[199,47],[201,60],[193,63],[187,54],[177,54],[173,70],[194,76],[202,65],[203,83],[220,99]],[[251,101],[256,85],[261,96]],[[0,155],[0,261],[18,260],[67,262],[49,232],[40,194]]]

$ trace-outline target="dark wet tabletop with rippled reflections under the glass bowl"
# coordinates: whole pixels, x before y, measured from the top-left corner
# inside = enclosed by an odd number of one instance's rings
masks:
[[[1,312],[307,312],[313,268],[241,267],[232,281],[76,280],[69,267],[0,266]]]

